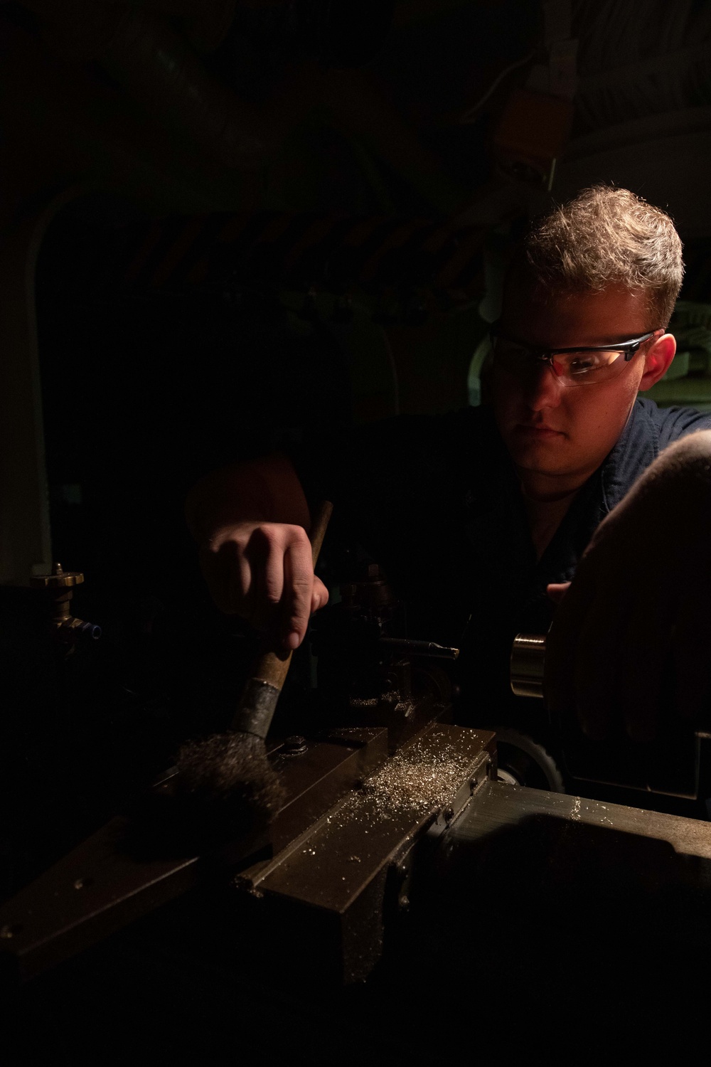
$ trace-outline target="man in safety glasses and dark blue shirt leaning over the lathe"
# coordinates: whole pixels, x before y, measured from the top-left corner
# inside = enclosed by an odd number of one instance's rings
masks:
[[[307,500],[327,496],[407,601],[410,636],[462,646],[458,720],[501,724],[512,638],[548,628],[593,538],[550,635],[551,705],[592,735],[621,716],[647,737],[670,659],[665,699],[699,713],[711,416],[636,399],[674,359],[682,270],[672,220],[627,190],[552,211],[507,273],[489,405],[368,426],[195,488],[189,523],[216,603],[297,647],[327,600],[306,536]]]

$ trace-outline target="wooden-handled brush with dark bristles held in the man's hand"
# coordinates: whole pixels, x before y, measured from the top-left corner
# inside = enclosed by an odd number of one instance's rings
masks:
[[[325,500],[311,527],[316,567],[333,505]],[[276,652],[265,639],[247,679],[230,731],[201,742],[188,742],[178,752],[175,799],[191,834],[220,840],[263,829],[285,795],[266,758],[266,737],[291,652]]]

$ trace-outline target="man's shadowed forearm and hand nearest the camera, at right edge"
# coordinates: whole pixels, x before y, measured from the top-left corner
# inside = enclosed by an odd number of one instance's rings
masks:
[[[584,732],[624,723],[651,740],[660,714],[711,718],[711,431],[682,439],[595,532],[560,599],[546,651],[551,711]]]

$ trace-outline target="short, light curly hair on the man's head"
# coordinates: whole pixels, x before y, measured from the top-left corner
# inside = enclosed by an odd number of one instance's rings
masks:
[[[518,267],[546,288],[641,290],[655,328],[668,323],[683,277],[681,240],[669,216],[614,186],[583,189],[535,220],[521,253]]]

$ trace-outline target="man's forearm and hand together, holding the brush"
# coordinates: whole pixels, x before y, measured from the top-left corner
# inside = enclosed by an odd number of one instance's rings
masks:
[[[282,455],[223,467],[188,495],[185,515],[217,607],[296,648],[328,600],[311,566],[306,496]]]

